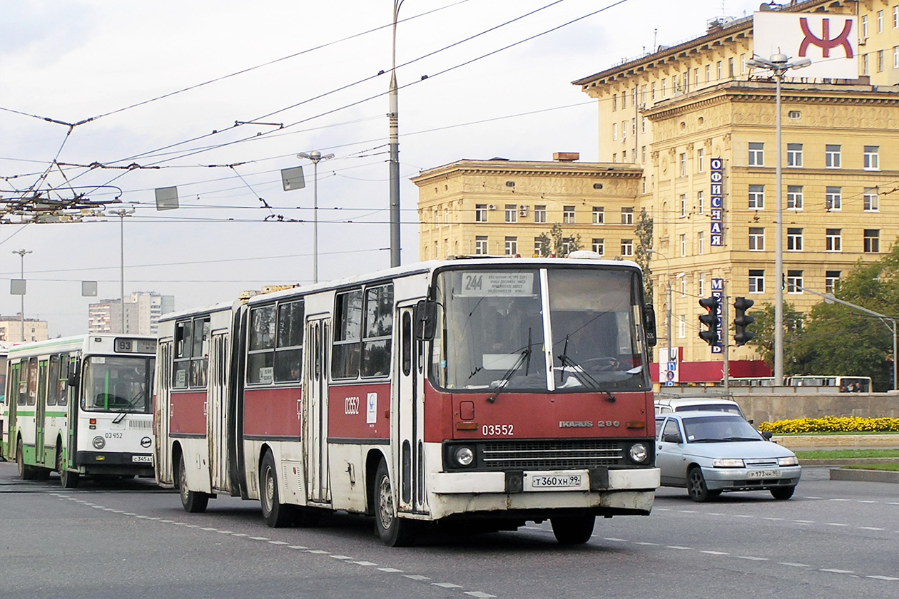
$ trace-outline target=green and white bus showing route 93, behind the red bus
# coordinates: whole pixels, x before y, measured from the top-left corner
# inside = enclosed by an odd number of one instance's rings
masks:
[[[14,345],[3,405],[3,452],[23,480],[57,471],[86,476],[153,473],[156,338],[93,334]]]

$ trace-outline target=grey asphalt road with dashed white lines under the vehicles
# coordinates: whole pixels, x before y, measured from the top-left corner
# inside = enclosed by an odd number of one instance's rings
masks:
[[[270,529],[255,502],[182,511],[152,480],[23,482],[0,463],[0,597],[802,597],[899,596],[899,485],[806,469],[794,498],[661,489],[653,514],[597,522],[556,544],[517,533],[430,533],[381,545],[369,518]]]

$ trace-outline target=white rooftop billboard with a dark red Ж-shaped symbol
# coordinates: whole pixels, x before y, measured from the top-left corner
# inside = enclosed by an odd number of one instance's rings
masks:
[[[766,12],[752,15],[752,52],[770,59],[808,58],[810,66],[786,76],[859,78],[859,30],[850,14]]]

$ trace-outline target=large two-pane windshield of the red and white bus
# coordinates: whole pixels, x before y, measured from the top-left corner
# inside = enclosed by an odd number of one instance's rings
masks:
[[[645,391],[639,297],[632,269],[442,270],[434,382],[471,391]]]

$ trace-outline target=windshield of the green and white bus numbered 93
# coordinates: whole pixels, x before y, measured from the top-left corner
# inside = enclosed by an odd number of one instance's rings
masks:
[[[152,357],[86,357],[82,409],[149,413],[155,362]]]

